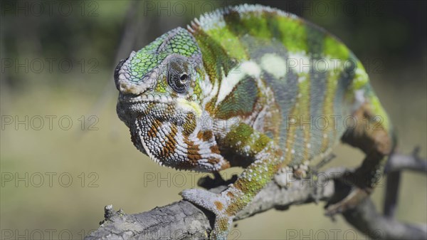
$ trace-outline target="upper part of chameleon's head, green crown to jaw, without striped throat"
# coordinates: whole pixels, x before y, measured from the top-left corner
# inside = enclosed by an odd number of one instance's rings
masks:
[[[130,126],[135,118],[168,118],[177,103],[192,105],[198,113],[194,85],[202,71],[199,47],[184,28],[175,28],[141,50],[132,51],[115,69],[120,119]]]

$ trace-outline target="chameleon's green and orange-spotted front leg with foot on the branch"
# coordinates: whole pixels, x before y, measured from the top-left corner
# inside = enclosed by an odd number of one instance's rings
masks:
[[[223,142],[241,155],[253,157],[255,161],[221,194],[204,189],[181,192],[184,199],[216,215],[211,239],[226,239],[234,216],[270,182],[283,160],[273,140],[245,124],[234,127]]]

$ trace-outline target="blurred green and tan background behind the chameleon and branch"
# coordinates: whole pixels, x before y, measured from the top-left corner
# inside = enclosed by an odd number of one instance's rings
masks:
[[[254,3],[255,1],[246,1]],[[220,6],[241,1],[1,1],[1,239],[82,239],[113,204],[145,212],[180,199],[204,174],[158,166],[115,113],[121,58]],[[362,60],[399,134],[426,156],[426,2],[268,1],[309,19]],[[330,166],[359,165],[339,146]],[[238,171],[231,169],[228,173]],[[383,181],[384,182],[384,181]],[[405,172],[397,219],[427,222],[426,176]],[[384,187],[373,194],[382,208]],[[322,204],[238,221],[239,239],[366,239]],[[334,230],[338,229],[338,230]],[[42,234],[42,235],[41,235]],[[311,236],[311,237],[310,237]]]

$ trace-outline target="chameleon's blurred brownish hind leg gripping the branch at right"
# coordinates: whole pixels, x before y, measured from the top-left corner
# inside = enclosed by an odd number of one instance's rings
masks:
[[[344,175],[346,182],[354,184],[355,188],[341,202],[328,206],[328,215],[355,207],[369,196],[381,179],[386,159],[395,147],[388,116],[376,96],[368,96],[367,102],[354,113],[354,118],[358,122],[357,126],[347,130],[342,141],[358,147],[366,157],[354,172]]]

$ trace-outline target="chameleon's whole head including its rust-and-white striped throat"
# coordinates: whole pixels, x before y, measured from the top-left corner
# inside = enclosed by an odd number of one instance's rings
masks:
[[[132,52],[115,69],[120,91],[117,114],[130,128],[135,146],[152,160],[179,169],[220,165],[208,164],[209,159],[218,159],[218,152],[207,156],[214,136],[195,138],[201,132],[197,122],[203,112],[200,83],[205,75],[199,46],[184,28],[175,28]],[[204,147],[206,156],[199,153]]]

